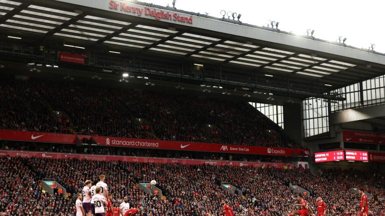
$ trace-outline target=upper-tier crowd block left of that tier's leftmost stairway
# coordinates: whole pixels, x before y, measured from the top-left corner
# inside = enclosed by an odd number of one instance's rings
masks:
[[[0,77],[0,128],[68,133],[28,80]]]

